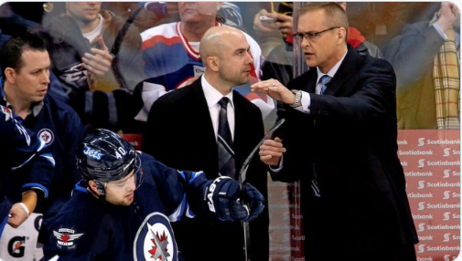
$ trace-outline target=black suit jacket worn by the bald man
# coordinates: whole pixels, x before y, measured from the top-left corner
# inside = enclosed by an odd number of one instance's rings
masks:
[[[234,151],[236,172],[263,138],[260,110],[238,92],[233,93],[235,111]],[[218,147],[210,111],[200,78],[156,100],[146,123],[143,150],[159,162],[178,170],[203,171],[218,177]],[[266,168],[256,155],[248,181],[267,198]],[[266,201],[267,202],[267,201]],[[268,260],[268,208],[251,223],[252,260]],[[208,218],[183,219],[174,224],[178,249],[186,260],[243,260],[241,224],[210,222]]]

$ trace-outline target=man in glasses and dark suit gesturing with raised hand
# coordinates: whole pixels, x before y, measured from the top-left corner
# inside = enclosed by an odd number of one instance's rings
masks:
[[[306,257],[415,260],[392,66],[347,45],[338,5],[307,5],[299,17],[295,39],[310,69],[288,88],[269,79],[252,90],[292,107],[285,140],[264,141],[260,156],[274,179],[300,180]]]

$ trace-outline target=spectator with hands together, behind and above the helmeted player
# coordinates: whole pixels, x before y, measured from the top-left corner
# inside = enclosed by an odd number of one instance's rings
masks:
[[[101,2],[66,3],[46,27],[53,72],[70,105],[90,127],[124,129],[131,90],[141,80],[141,37],[135,26],[101,10]]]

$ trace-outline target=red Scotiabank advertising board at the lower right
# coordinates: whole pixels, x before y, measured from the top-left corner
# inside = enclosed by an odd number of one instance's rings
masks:
[[[460,131],[400,131],[398,144],[418,260],[454,260],[460,251]]]

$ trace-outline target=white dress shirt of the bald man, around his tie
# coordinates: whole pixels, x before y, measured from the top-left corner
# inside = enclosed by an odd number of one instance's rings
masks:
[[[217,89],[213,88],[210,83],[205,79],[205,77],[200,78],[200,83],[202,84],[202,90],[204,91],[205,99],[207,100],[207,105],[209,106],[211,123],[213,125],[213,131],[215,132],[215,139],[218,139],[218,121],[220,116],[221,106],[218,103],[223,95]],[[226,95],[230,99],[228,102],[227,112],[228,112],[228,124],[230,125],[231,138],[234,141],[234,104],[232,103],[232,91]]]

